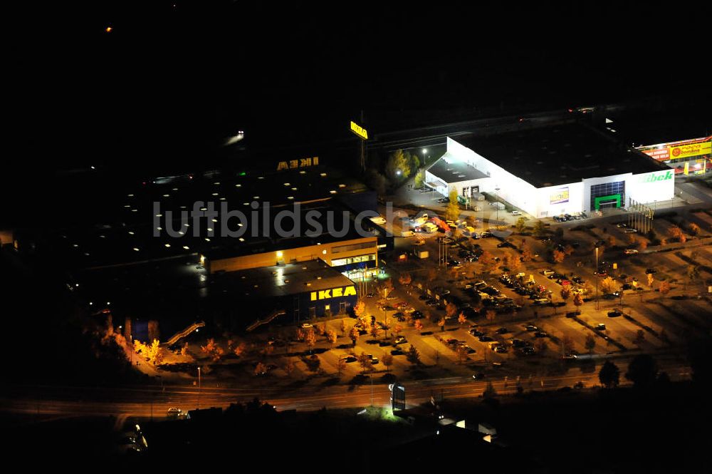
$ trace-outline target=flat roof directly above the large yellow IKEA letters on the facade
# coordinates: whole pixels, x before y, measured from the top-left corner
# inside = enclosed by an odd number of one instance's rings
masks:
[[[257,299],[318,292],[353,284],[321,259],[228,272],[214,279],[213,291]]]

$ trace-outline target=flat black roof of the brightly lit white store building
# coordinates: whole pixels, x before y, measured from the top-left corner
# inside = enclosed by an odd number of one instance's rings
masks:
[[[462,142],[487,160],[536,187],[580,182],[583,178],[667,169],[609,132],[575,121]]]

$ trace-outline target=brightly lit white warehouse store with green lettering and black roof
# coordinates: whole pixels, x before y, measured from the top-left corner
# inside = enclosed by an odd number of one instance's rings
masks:
[[[442,195],[488,192],[533,217],[671,200],[675,182],[666,165],[577,122],[467,143],[448,138],[425,181]]]

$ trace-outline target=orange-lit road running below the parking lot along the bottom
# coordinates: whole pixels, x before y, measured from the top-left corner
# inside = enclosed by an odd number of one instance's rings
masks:
[[[623,374],[627,361],[615,362],[621,370],[621,384],[628,382]],[[689,378],[688,367],[680,364],[674,356],[657,356],[661,371],[666,371],[672,380]],[[597,369],[597,368],[596,368]],[[514,393],[516,378],[491,377],[497,393]],[[554,376],[529,376],[523,374],[520,383],[525,390],[555,390],[563,386],[573,386],[582,381],[585,386],[598,384],[598,371],[587,373],[565,373]],[[431,396],[444,398],[477,397],[486,388],[487,380],[474,381],[471,377],[451,377],[412,381],[406,384],[408,406],[429,401]],[[54,387],[54,386],[10,386],[0,398],[2,411],[38,415],[46,418],[68,416],[128,416],[162,418],[171,406],[179,406],[184,411],[213,406],[226,407],[230,403],[246,402],[254,397],[268,401],[278,411],[297,409],[300,411],[326,408],[359,408],[368,406],[373,400],[375,406],[389,406],[390,392],[382,383],[360,386],[330,386],[325,388],[305,387],[303,389],[273,388],[201,388],[194,386],[157,387]]]

